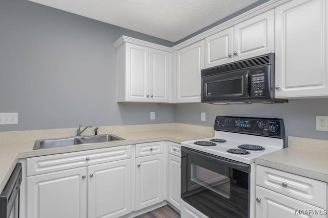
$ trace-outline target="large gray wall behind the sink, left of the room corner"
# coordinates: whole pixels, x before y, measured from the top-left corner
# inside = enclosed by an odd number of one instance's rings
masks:
[[[0,112],[18,112],[0,131],[175,121],[174,105],[116,103],[113,47],[121,35],[173,42],[27,0],[0,1],[0,31]]]

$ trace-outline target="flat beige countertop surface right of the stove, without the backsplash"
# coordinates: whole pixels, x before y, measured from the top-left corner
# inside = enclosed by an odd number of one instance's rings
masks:
[[[328,153],[285,148],[255,159],[255,163],[328,182]]]

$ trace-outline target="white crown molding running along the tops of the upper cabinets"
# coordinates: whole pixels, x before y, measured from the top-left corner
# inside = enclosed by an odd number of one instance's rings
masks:
[[[272,10],[280,5],[283,5],[287,2],[290,2],[290,1],[292,1],[292,0],[271,0],[267,3],[264,3],[264,4],[256,7],[256,8],[253,8],[243,14],[240,14],[226,22],[223,22],[220,25],[211,28],[210,30],[202,32],[190,39],[187,39],[186,41],[183,41],[177,45],[174,45],[173,47],[163,46],[163,45],[159,45],[159,44],[152,43],[152,42],[147,42],[147,41],[140,40],[140,39],[135,39],[135,38],[128,37],[128,36],[121,36],[113,45],[114,45],[115,49],[117,49],[125,42],[129,42],[129,43],[143,45],[143,46],[151,47],[153,49],[158,49],[158,50],[172,53],[177,50],[183,49],[183,47],[186,47],[186,46],[196,43],[200,40],[203,40],[211,35],[214,35],[220,31],[231,28],[231,27],[235,26],[237,23],[248,20],[248,19],[255,17],[259,14],[262,14],[264,12],[270,11],[270,10]]]

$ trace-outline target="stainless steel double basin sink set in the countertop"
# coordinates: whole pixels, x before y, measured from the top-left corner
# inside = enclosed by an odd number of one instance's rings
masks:
[[[68,138],[55,138],[55,139],[39,139],[34,143],[33,150],[60,148],[66,146],[74,146],[77,144],[86,143],[100,143],[109,141],[125,140],[124,138],[116,135],[97,135],[97,136],[73,136]]]

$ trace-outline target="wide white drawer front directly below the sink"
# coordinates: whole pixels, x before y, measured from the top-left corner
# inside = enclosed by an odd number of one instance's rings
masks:
[[[27,158],[27,176],[131,158],[132,146]]]

